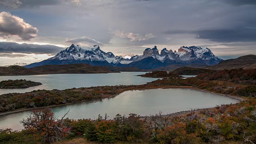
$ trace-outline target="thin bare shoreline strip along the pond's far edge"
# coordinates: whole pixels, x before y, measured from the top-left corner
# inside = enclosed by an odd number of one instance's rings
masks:
[[[184,89],[198,90],[198,91],[201,91],[201,92],[208,92],[208,93],[211,93],[211,94],[217,94],[217,95],[220,95],[220,96],[226,96],[228,98],[232,98],[232,99],[238,100],[239,102],[242,102],[242,101],[245,100],[242,97],[230,96],[230,95],[226,95],[226,94],[219,94],[219,93],[215,93],[215,92],[210,92],[210,91],[202,90],[202,89],[199,89],[199,88],[193,88],[193,87],[190,87],[190,86],[159,86],[159,87],[154,86],[154,87],[148,87],[148,88],[134,88],[134,89],[129,89],[129,90],[123,90],[119,94],[122,94],[123,92],[126,92],[126,91],[132,91],[132,90],[150,90],[150,89],[168,89],[168,88],[184,88]],[[113,98],[115,96],[118,96],[119,94],[114,94],[112,96],[108,96],[108,97],[106,97],[106,99]],[[12,113],[17,113],[17,112],[24,112],[24,111],[28,111],[28,110],[37,110],[37,109],[42,109],[42,108],[53,108],[53,107],[57,107],[57,106],[77,104],[77,103],[82,103],[82,102],[91,103],[91,102],[96,102],[96,101],[104,100],[104,99],[105,98],[96,98],[96,99],[93,99],[93,100],[84,100],[84,101],[80,101],[80,102],[72,102],[72,103],[66,103],[66,104],[42,106],[42,107],[37,107],[37,108],[21,108],[21,109],[17,109],[17,110],[14,110],[14,111],[0,112],[0,116],[12,114]],[[205,109],[205,108],[202,108],[202,109]],[[201,109],[197,109],[197,110],[201,110]],[[179,112],[177,112],[177,113],[179,113]]]

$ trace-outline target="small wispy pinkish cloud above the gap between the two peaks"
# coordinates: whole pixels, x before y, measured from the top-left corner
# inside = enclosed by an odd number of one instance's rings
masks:
[[[120,38],[129,38],[131,42],[133,41],[143,41],[143,40],[148,40],[150,38],[155,38],[152,33],[146,34],[145,36],[142,36],[141,34],[134,34],[132,32],[125,33],[120,30],[113,30],[110,31],[111,34],[114,34],[115,36],[118,36]]]

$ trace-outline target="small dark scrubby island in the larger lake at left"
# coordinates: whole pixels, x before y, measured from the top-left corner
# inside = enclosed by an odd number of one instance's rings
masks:
[[[0,82],[1,89],[18,89],[29,88],[31,86],[39,86],[40,82],[32,82],[31,80],[3,80]]]

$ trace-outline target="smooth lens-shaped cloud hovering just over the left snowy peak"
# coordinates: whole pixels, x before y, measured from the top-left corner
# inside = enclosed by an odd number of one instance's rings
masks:
[[[80,44],[80,45],[103,45],[101,42],[98,42],[97,40],[94,40],[92,38],[88,38],[86,36],[82,38],[73,38],[73,39],[67,39],[65,42],[68,42],[70,44]]]

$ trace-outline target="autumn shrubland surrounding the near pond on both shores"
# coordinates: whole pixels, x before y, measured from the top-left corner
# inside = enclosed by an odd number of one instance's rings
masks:
[[[255,69],[212,71],[186,79],[168,76],[138,86],[97,86],[4,94],[0,96],[0,108],[4,112],[18,108],[107,98],[125,90],[173,86],[243,96],[246,100],[179,116],[162,115],[160,112],[146,118],[137,114],[117,114],[113,119],[109,119],[107,115],[99,115],[97,119],[73,120],[64,118],[65,116],[57,119],[50,109],[35,110],[21,121],[26,129],[20,132],[0,130],[0,143],[256,143]],[[72,142],[75,140],[80,141]]]

